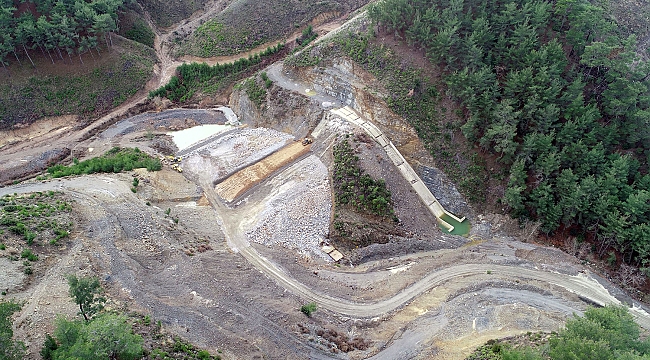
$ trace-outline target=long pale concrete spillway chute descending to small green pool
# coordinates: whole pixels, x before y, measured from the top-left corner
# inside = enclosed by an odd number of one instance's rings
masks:
[[[402,176],[406,181],[408,181],[411,186],[413,187],[413,190],[418,194],[420,197],[420,200],[424,202],[424,204],[427,206],[429,211],[438,218],[438,222],[447,229],[448,232],[452,232],[454,230],[454,227],[446,222],[445,220],[442,219],[443,215],[447,215],[450,218],[458,221],[459,223],[462,223],[465,220],[465,217],[463,218],[458,218],[456,215],[450,213],[449,211],[445,210],[445,208],[440,205],[440,202],[438,202],[438,199],[436,199],[435,196],[429,191],[429,189],[426,187],[426,185],[422,182],[422,179],[417,175],[415,170],[409,165],[409,163],[404,159],[402,154],[397,150],[395,145],[393,145],[388,138],[375,126],[375,124],[366,121],[362,118],[360,118],[356,112],[350,108],[349,106],[340,108],[340,109],[334,109],[330,110],[330,113],[333,115],[336,115],[342,119],[345,119],[359,127],[361,127],[368,135],[370,135],[384,150],[386,151],[386,154],[388,154],[388,158],[395,164],[397,169],[399,169],[400,173],[402,173]]]

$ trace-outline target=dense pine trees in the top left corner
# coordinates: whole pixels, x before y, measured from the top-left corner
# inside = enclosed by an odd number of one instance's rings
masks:
[[[20,63],[30,52],[40,51],[52,63],[72,62],[91,50],[101,55],[100,41],[109,47],[117,30],[117,11],[123,0],[0,0],[0,63]],[[18,53],[22,53],[19,56]],[[94,56],[94,55],[93,55]]]

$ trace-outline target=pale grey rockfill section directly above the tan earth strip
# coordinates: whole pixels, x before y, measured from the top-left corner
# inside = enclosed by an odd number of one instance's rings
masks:
[[[291,135],[265,128],[228,132],[184,155],[182,167],[218,181],[282,148],[291,139]]]

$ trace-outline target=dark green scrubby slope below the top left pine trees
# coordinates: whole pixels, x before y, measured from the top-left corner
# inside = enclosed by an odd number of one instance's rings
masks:
[[[78,114],[96,117],[120,105],[151,78],[156,55],[142,44],[113,37],[114,46],[101,50],[85,65],[57,63],[34,57],[39,73],[27,64],[0,74],[0,129],[32,123],[44,116]]]

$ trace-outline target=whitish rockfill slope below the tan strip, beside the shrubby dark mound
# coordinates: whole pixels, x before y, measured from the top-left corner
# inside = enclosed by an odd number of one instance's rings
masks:
[[[329,231],[332,210],[327,168],[310,156],[287,171],[291,178],[266,202],[246,236],[251,242],[281,245],[327,260],[319,247]]]

